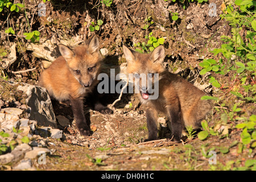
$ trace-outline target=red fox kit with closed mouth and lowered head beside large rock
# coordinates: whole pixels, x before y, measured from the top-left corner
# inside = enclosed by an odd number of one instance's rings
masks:
[[[39,78],[39,86],[48,90],[57,101],[70,101],[76,125],[82,135],[90,135],[89,123],[83,110],[83,98],[92,92],[100,72],[101,54],[98,38],[93,36],[90,43],[71,50],[60,44],[62,56],[58,57]],[[97,106],[99,110],[101,105]],[[104,107],[104,106],[103,106]]]

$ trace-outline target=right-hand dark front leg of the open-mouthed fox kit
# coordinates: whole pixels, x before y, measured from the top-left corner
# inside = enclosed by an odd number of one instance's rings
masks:
[[[172,105],[166,107],[168,117],[171,122],[171,131],[175,142],[180,142],[181,133],[184,127],[183,119],[181,115],[179,101],[175,101]]]

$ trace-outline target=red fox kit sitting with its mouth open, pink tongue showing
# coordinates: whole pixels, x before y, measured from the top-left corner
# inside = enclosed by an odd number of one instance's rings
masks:
[[[139,78],[138,94],[142,104],[147,108],[147,140],[157,139],[156,121],[159,111],[166,114],[171,122],[171,131],[176,142],[180,142],[184,126],[193,128],[201,126],[201,120],[212,108],[211,101],[201,100],[200,98],[205,95],[203,91],[164,69],[162,65],[165,57],[163,46],[155,48],[152,53],[148,54],[134,52],[123,46],[123,52],[127,60],[127,72]],[[146,81],[142,81],[142,73],[147,74]],[[155,79],[155,75],[158,75],[158,80]],[[152,82],[152,86],[156,86],[156,83],[159,86],[158,97],[151,100],[151,92],[149,92],[151,88],[146,84],[149,81]]]

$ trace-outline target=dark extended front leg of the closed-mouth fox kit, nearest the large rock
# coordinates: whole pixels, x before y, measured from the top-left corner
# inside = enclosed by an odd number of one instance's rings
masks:
[[[71,106],[73,110],[74,118],[76,119],[76,126],[79,129],[81,135],[89,136],[90,127],[86,123],[84,116],[84,103],[81,98],[71,98]]]

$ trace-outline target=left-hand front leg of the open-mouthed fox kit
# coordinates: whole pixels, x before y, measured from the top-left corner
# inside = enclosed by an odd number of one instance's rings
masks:
[[[150,140],[156,140],[158,138],[158,126],[156,125],[157,121],[157,112],[154,109],[147,108],[147,129],[148,129],[148,139],[144,140],[145,142]]]

